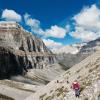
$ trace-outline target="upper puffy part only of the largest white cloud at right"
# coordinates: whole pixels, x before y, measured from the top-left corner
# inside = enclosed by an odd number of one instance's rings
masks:
[[[96,5],[84,8],[79,14],[74,16],[77,25],[87,28],[100,28],[100,9]]]

